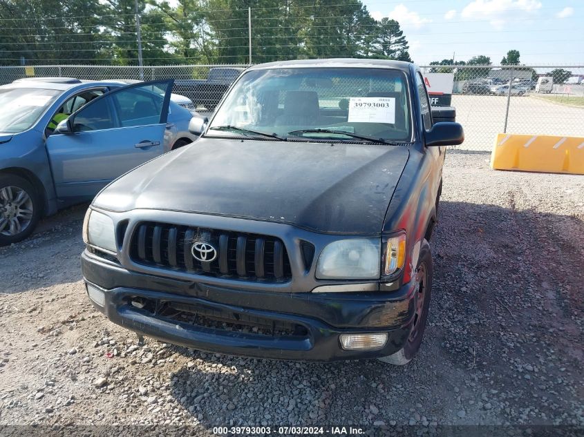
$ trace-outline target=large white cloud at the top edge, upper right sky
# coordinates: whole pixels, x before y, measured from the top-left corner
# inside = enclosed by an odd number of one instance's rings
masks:
[[[501,29],[508,20],[524,17],[541,8],[538,0],[474,0],[460,15],[467,19],[490,19],[494,28]]]

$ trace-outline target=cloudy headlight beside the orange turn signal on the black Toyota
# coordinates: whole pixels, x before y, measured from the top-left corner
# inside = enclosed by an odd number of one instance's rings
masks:
[[[317,278],[378,279],[380,264],[378,238],[339,240],[323,249],[317,264]]]

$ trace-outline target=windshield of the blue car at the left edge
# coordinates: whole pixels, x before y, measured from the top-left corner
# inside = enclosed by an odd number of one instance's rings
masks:
[[[27,130],[61,93],[41,88],[0,88],[0,132]]]

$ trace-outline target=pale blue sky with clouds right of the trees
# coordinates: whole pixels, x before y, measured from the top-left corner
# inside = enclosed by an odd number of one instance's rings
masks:
[[[475,55],[499,64],[584,66],[584,0],[361,0],[375,19],[399,21],[418,65]]]

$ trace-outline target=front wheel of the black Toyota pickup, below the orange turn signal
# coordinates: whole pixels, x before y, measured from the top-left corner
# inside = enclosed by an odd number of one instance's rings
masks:
[[[424,240],[420,247],[420,257],[412,280],[416,282],[416,300],[415,315],[408,340],[399,351],[390,356],[379,358],[379,360],[396,366],[406,365],[414,358],[417,351],[420,350],[424,330],[426,329],[428,308],[430,307],[432,294],[432,253],[427,240]]]

